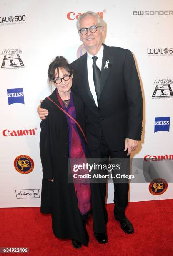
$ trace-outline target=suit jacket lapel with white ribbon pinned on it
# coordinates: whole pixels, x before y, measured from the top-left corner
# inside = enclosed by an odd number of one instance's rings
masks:
[[[114,60],[114,56],[112,56],[109,52],[109,47],[103,44],[104,50],[103,50],[103,59],[102,59],[102,69],[101,69],[101,77],[100,77],[100,95],[102,93],[103,87],[105,86],[105,82],[108,78],[111,65]],[[105,67],[106,61],[109,61],[108,68]]]

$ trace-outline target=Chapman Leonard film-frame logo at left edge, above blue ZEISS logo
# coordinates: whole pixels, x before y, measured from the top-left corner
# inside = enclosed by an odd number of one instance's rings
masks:
[[[24,64],[19,54],[22,54],[21,49],[3,49],[1,55],[4,55],[1,69],[20,69],[24,68]]]

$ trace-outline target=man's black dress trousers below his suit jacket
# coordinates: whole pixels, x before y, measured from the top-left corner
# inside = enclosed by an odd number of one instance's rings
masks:
[[[124,148],[120,151],[111,151],[105,137],[102,133],[100,146],[90,151],[92,158],[130,158],[127,156],[127,151]],[[128,166],[130,170],[130,166]],[[126,172],[126,174],[129,172]],[[129,184],[126,183],[114,183],[114,216],[118,220],[125,218],[125,208],[128,204],[128,189]],[[91,196],[93,207],[93,227],[94,232],[104,233],[106,231],[106,223],[108,221],[108,214],[105,208],[106,198],[106,184],[105,183],[93,183],[91,184]]]

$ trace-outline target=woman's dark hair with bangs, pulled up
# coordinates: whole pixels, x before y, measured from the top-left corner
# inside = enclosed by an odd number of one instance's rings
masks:
[[[70,74],[73,74],[73,69],[68,64],[67,60],[63,56],[57,56],[54,61],[52,61],[49,65],[48,69],[48,79],[49,81],[53,81],[55,79],[55,70],[57,69],[59,76],[59,68],[66,69]]]

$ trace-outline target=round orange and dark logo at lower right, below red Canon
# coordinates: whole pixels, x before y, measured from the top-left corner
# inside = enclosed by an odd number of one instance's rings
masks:
[[[161,195],[168,188],[168,183],[165,179],[154,179],[149,185],[149,191],[153,195]]]

